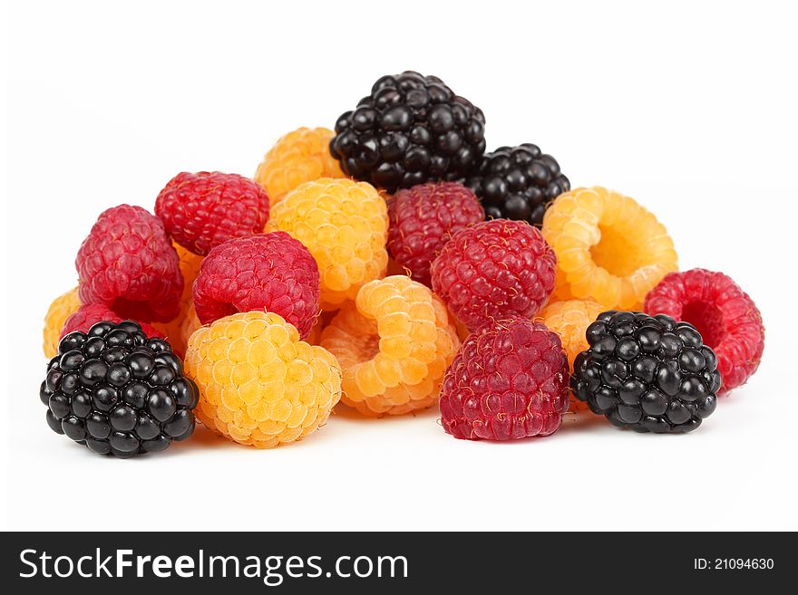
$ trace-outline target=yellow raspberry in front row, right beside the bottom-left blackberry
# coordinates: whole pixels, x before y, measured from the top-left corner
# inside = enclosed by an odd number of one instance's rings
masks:
[[[186,374],[199,387],[194,413],[239,444],[271,448],[325,424],[341,397],[333,355],[271,312],[238,312],[189,340]]]

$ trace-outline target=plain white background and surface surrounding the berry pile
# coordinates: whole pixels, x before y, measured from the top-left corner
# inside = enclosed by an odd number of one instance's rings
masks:
[[[656,6],[656,7],[655,7]],[[13,529],[798,529],[798,56],[790,3],[16,2],[8,8],[3,428]],[[759,372],[686,436],[569,416],[552,437],[454,440],[431,410],[343,406],[276,450],[198,430],[92,456],[44,422],[42,319],[95,217],[181,170],[252,175],[385,73],[443,78],[489,149],[535,142],[574,187],[652,210],[683,269],[751,293]],[[168,504],[164,504],[168,503]],[[752,552],[756,553],[756,552]]]

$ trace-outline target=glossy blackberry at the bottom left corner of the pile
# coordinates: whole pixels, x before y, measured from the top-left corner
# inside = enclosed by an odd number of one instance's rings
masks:
[[[199,391],[167,341],[134,321],[102,321],[63,337],[39,397],[54,432],[128,458],[190,437]]]

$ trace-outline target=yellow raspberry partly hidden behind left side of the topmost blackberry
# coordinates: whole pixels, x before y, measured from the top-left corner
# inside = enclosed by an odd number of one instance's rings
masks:
[[[255,172],[255,181],[266,190],[271,206],[288,192],[318,178],[345,178],[338,161],[330,155],[335,132],[326,128],[300,128],[277,140]]]

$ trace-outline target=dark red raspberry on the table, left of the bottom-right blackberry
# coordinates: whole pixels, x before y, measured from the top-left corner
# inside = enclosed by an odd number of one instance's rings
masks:
[[[441,421],[455,438],[549,436],[568,411],[560,337],[523,318],[472,332],[443,378]]]

